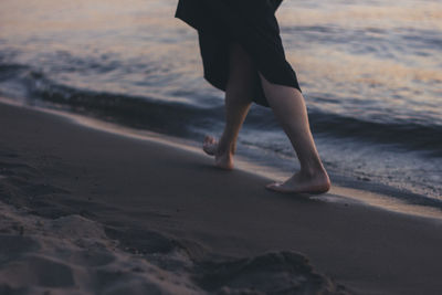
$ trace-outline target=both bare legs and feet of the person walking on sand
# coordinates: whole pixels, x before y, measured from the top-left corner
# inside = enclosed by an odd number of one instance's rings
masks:
[[[230,73],[225,91],[225,126],[218,143],[207,136],[203,150],[215,157],[215,166],[233,168],[238,134],[252,103],[255,67],[241,45],[230,46]],[[325,192],[330,181],[319,159],[308,125],[304,97],[293,87],[270,83],[260,73],[265,96],[287,134],[301,162],[301,171],[269,189],[286,192]]]

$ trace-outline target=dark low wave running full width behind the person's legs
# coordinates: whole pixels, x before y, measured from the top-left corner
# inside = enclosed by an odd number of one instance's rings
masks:
[[[223,107],[199,107],[196,104],[170,102],[152,96],[131,96],[81,89],[60,85],[41,72],[17,64],[0,64],[0,83],[12,81],[25,88],[27,98],[50,103],[51,107],[80,112],[135,128],[194,138],[213,131],[223,124]],[[346,116],[318,107],[309,109],[312,130],[332,137],[391,144],[401,148],[427,151],[442,157],[442,126],[386,116],[383,122]],[[271,110],[256,107],[248,116],[245,128],[280,128]]]

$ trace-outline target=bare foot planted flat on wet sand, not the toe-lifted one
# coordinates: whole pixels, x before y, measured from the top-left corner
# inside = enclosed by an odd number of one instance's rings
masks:
[[[293,175],[284,182],[274,182],[265,187],[269,190],[284,193],[325,193],[330,189],[330,180],[325,170],[314,175],[302,171]]]

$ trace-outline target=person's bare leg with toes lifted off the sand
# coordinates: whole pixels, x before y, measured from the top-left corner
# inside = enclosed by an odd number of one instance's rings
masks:
[[[215,158],[215,166],[231,170],[238,134],[252,104],[254,67],[238,43],[229,46],[229,80],[225,89],[225,125],[220,140],[207,136],[203,150]]]

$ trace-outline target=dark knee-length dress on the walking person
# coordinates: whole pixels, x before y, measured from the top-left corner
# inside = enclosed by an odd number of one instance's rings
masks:
[[[204,78],[225,91],[229,43],[238,42],[270,82],[301,91],[296,73],[285,59],[275,18],[283,0],[179,0],[175,17],[198,30]],[[255,73],[253,102],[269,106]]]

